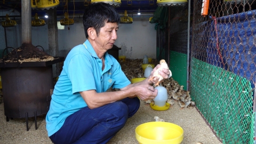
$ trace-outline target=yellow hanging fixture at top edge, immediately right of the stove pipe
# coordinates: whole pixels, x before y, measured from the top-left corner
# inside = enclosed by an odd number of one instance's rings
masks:
[[[59,4],[59,0],[31,0],[32,9],[50,9]]]

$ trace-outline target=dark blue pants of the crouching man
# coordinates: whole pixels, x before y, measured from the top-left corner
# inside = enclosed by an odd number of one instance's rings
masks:
[[[61,129],[50,139],[53,143],[107,143],[139,107],[137,97],[94,109],[85,107],[67,117]]]

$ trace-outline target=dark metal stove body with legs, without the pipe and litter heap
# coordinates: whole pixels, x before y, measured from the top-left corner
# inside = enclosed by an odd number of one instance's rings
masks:
[[[50,107],[53,91],[52,65],[64,60],[54,57],[53,61],[1,62],[4,114],[9,118],[26,118],[46,114]]]

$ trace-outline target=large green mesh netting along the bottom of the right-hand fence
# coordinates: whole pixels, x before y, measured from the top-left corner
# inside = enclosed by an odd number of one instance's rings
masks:
[[[190,93],[223,143],[253,143],[253,92],[246,78],[193,58]]]

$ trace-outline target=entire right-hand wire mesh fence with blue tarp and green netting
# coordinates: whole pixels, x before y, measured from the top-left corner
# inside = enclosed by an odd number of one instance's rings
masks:
[[[194,1],[189,88],[223,143],[253,143],[256,74],[254,1]]]

